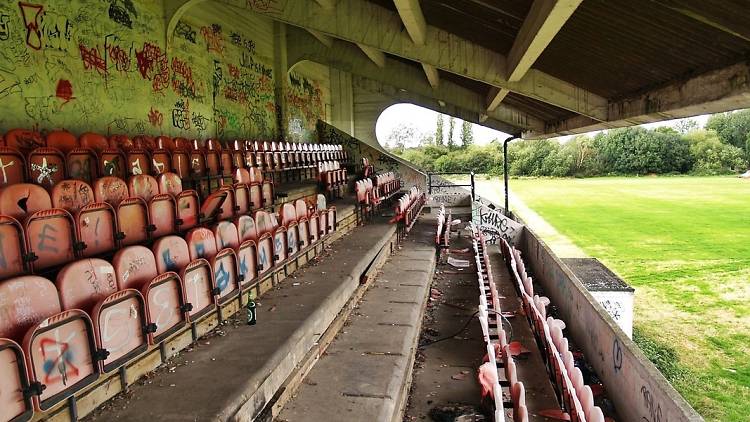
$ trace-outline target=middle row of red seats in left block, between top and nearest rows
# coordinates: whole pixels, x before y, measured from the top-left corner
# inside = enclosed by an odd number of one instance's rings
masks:
[[[131,176],[127,183],[101,177],[93,187],[62,180],[49,194],[29,183],[6,186],[0,190],[0,279],[273,205],[270,182],[259,182],[255,171],[238,172],[237,183],[221,186],[203,201],[194,190],[183,190],[175,173]]]

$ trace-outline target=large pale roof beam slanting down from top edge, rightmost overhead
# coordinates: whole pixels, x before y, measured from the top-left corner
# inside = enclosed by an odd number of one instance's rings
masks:
[[[508,53],[509,82],[518,82],[526,75],[582,1],[534,1]],[[508,92],[510,91],[505,88],[491,89],[487,99],[487,110],[494,110]]]

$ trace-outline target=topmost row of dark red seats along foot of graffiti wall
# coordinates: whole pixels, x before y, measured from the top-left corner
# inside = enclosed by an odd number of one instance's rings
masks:
[[[174,172],[183,179],[231,177],[241,168],[280,172],[298,170],[313,177],[320,163],[348,159],[341,145],[234,141],[228,148],[212,139],[202,145],[184,138],[85,133],[76,138],[54,131],[13,129],[0,140],[0,186],[35,182],[51,188],[66,178],[93,183],[97,177],[158,175]],[[326,164],[329,165],[329,164]],[[307,173],[310,173],[307,175]]]

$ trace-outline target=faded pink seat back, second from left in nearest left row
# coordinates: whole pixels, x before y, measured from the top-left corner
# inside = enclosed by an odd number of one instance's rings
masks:
[[[88,314],[94,306],[117,291],[112,264],[103,259],[80,259],[63,267],[55,280],[63,309],[81,309]]]

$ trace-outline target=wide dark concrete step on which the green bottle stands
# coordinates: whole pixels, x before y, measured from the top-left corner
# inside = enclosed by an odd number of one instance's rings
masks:
[[[379,219],[335,242],[319,262],[300,268],[266,293],[258,324],[238,312],[91,420],[247,421],[264,406],[315,345],[381,249],[395,225]],[[210,337],[210,336],[209,336]]]

